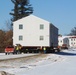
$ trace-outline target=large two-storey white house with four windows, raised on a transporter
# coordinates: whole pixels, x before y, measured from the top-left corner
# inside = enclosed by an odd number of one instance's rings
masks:
[[[58,45],[58,28],[37,16],[30,15],[13,22],[13,45]]]

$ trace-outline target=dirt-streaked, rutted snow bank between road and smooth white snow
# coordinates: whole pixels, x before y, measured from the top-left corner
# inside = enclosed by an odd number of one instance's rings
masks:
[[[31,58],[29,59],[28,63],[25,63],[25,61],[21,61],[18,62],[16,61],[16,63],[9,63],[6,65],[2,66],[2,68],[0,68],[0,70],[2,71],[6,71],[8,73],[12,73],[15,75],[28,75],[25,74],[26,72],[30,72],[31,70],[34,69],[39,69],[42,67],[46,67],[46,66],[50,66],[53,65],[57,62],[62,62],[65,58],[63,56],[60,55],[56,55],[56,54],[43,54],[39,57],[36,58]],[[0,63],[1,65],[3,65],[4,63]],[[14,66],[15,65],[15,66]],[[33,75],[33,74],[29,74],[29,75]]]

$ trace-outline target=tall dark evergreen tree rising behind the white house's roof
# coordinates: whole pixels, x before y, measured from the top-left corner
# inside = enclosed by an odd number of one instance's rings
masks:
[[[12,21],[16,21],[22,17],[26,17],[33,13],[33,8],[29,4],[29,0],[11,0],[14,3],[14,13]]]

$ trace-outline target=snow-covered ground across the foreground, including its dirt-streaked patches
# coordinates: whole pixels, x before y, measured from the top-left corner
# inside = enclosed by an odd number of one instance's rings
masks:
[[[15,75],[76,75],[76,49],[23,60],[0,61],[0,71]]]

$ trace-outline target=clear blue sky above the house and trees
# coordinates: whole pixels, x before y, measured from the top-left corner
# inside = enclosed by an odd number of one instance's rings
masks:
[[[33,14],[53,23],[62,35],[70,33],[76,26],[76,0],[30,0]],[[0,2],[0,29],[11,18],[9,13],[14,8],[11,0]]]

